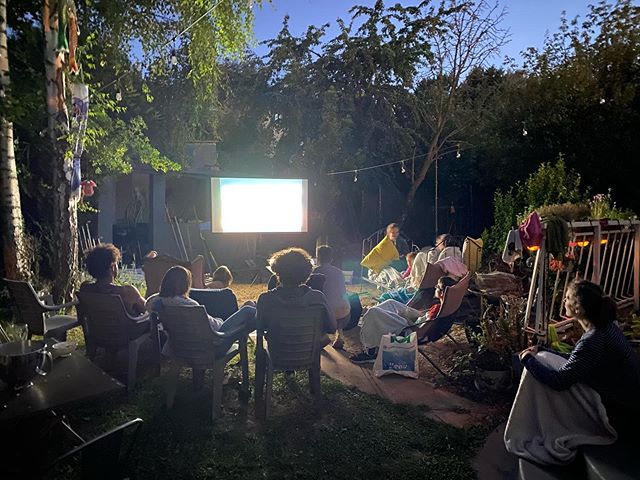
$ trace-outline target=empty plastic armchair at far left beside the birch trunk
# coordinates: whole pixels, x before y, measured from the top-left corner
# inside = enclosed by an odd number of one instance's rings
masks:
[[[29,338],[32,335],[42,335],[45,338],[66,340],[67,330],[78,326],[78,319],[70,315],[47,316],[46,313],[57,312],[77,305],[69,302],[64,305],[46,305],[28,282],[4,279],[9,293],[15,303],[18,317],[29,328]]]

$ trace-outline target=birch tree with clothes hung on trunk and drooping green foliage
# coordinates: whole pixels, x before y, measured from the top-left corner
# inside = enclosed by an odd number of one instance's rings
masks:
[[[261,2],[256,3],[259,5]],[[92,102],[97,100],[102,113],[123,113],[122,109],[119,110],[102,101],[104,98],[101,100],[101,94],[114,86],[118,88],[119,83],[124,82],[132,70],[139,72],[143,79],[145,76],[152,77],[170,71],[171,66],[167,60],[171,48],[183,53],[180,61],[189,65],[188,78],[193,86],[194,95],[200,105],[209,108],[211,104],[215,105],[217,100],[215,94],[220,80],[218,62],[221,57],[242,53],[251,36],[253,13],[251,3],[245,0],[176,0],[170,3],[159,0],[135,3],[127,0],[82,2],[78,5],[77,11],[73,0],[43,0],[42,5],[44,8],[40,11],[36,2],[26,1],[17,6],[16,11],[20,13],[17,17],[20,19],[20,27],[23,28],[20,33],[27,32],[37,22],[45,33],[49,146],[48,158],[43,161],[52,166],[53,189],[50,205],[53,205],[52,252],[56,278],[53,293],[56,298],[61,298],[68,297],[73,288],[77,272],[78,242],[77,198],[72,195],[69,182],[73,168],[70,155],[70,141],[73,135],[69,132],[66,104],[67,76],[69,71],[73,70],[73,60],[64,42],[59,44],[64,38],[64,35],[58,35],[59,30],[64,32],[69,27],[72,34],[77,33],[73,29],[73,21],[80,25],[83,25],[84,21],[84,25],[90,26],[84,30],[89,34],[81,37],[80,43],[97,32],[96,35],[103,42],[99,47],[112,54],[108,58],[109,62],[103,59],[95,63],[87,61],[86,69],[83,71],[84,79],[90,86]],[[69,25],[67,21],[70,22]],[[141,41],[144,46],[145,69],[132,68],[129,56],[117,53],[130,52],[133,40]],[[73,45],[71,47],[73,49]],[[84,60],[86,61],[87,57]],[[90,63],[92,65],[89,65]],[[142,87],[146,87],[145,80],[140,83]],[[136,136],[132,137],[122,132],[120,138],[136,143],[138,147],[145,147],[146,153],[152,158],[155,156],[157,160],[153,149],[150,149],[148,144],[145,145],[144,122],[135,118],[129,120]],[[118,121],[114,121],[112,127],[123,130],[122,124]],[[216,118],[209,115],[205,121],[194,126],[194,135],[209,137],[215,134],[215,127]],[[106,138],[104,125],[89,133],[93,133],[89,140]],[[99,150],[96,143],[90,146]],[[150,163],[153,164],[153,159]]]

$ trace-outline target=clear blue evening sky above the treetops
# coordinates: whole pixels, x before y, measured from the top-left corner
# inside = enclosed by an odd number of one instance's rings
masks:
[[[568,18],[584,16],[589,4],[598,0],[501,0],[507,10],[504,26],[510,30],[511,40],[504,47],[502,55],[494,60],[501,64],[505,55],[520,58],[520,52],[527,47],[540,47],[545,34],[557,31],[562,11]],[[398,0],[386,0],[387,5]],[[258,41],[273,38],[282,26],[282,19],[289,14],[290,29],[294,35],[302,34],[308,25],[331,23],[329,35],[337,31],[336,18],[348,19],[348,11],[353,5],[372,5],[375,0],[272,0],[259,9],[255,9],[255,36]],[[415,5],[418,0],[401,0],[403,5]],[[435,4],[436,2],[434,2]],[[634,2],[639,3],[639,2]],[[254,50],[264,55],[265,46]]]

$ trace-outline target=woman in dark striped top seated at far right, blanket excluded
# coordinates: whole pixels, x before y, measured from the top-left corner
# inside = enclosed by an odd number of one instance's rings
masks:
[[[615,324],[616,304],[594,283],[580,280],[567,289],[567,316],[575,318],[584,334],[558,370],[536,358],[543,348],[530,347],[520,361],[541,383],[565,390],[583,383],[600,394],[611,425],[626,432],[640,417],[640,360]],[[557,352],[552,352],[558,354]]]

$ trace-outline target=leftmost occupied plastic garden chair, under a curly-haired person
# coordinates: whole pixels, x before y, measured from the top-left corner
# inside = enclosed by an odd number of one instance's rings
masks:
[[[119,295],[78,292],[77,296],[80,301],[78,316],[89,358],[95,358],[98,348],[109,354],[127,350],[127,391],[132,391],[136,384],[140,346],[149,340],[154,340],[152,344],[157,345],[157,338],[151,337],[150,316],[129,315]],[[159,367],[160,352],[157,349],[155,356]]]

